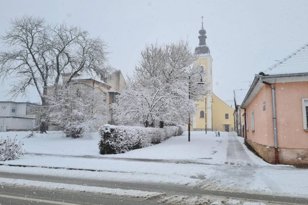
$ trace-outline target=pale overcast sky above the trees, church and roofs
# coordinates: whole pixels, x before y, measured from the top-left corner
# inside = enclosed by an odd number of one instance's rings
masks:
[[[222,100],[246,88],[254,74],[308,43],[308,1],[6,1],[0,2],[0,34],[23,14],[48,22],[80,25],[100,36],[112,52],[110,64],[132,73],[145,44],[188,39],[198,45],[201,15],[213,57],[213,90]],[[0,45],[1,49],[1,45]],[[0,101],[7,100],[0,84]],[[16,101],[38,102],[35,92]]]

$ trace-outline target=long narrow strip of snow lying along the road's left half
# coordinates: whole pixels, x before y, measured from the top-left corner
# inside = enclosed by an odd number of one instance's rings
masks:
[[[96,194],[110,194],[117,196],[134,197],[140,199],[153,199],[166,195],[165,193],[150,192],[150,191],[140,191],[140,190],[126,190],[119,188],[106,188],[106,187],[91,187],[83,186],[77,184],[65,184],[65,183],[55,183],[55,182],[43,182],[34,181],[26,179],[10,179],[10,178],[0,178],[0,183],[2,185],[14,185],[18,187],[36,187],[43,189],[65,189],[67,191],[80,191],[80,192],[90,192]]]

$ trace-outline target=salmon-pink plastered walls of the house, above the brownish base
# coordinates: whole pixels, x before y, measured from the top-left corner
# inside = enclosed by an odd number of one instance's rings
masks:
[[[277,133],[279,148],[308,148],[308,132],[303,129],[302,97],[308,97],[308,81],[275,83]],[[266,109],[263,110],[265,102]],[[271,88],[263,85],[246,107],[248,114],[247,139],[274,147]],[[251,112],[254,111],[254,131]]]

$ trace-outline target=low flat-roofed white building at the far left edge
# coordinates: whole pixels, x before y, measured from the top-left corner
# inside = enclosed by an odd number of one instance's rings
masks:
[[[40,104],[30,102],[0,101],[0,132],[37,127],[40,107]]]

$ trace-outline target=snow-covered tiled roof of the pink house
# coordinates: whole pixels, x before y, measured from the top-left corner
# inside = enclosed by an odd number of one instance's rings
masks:
[[[260,75],[283,75],[293,73],[308,73],[308,44],[282,58],[273,66],[259,72]]]

